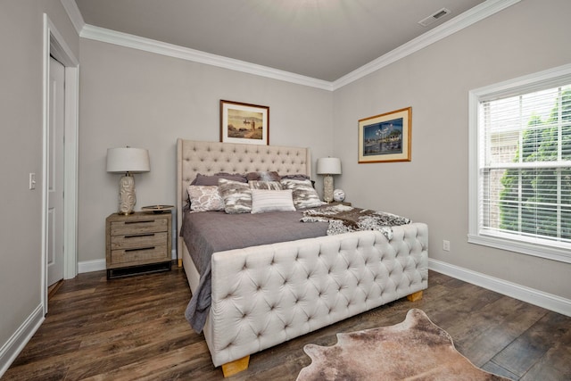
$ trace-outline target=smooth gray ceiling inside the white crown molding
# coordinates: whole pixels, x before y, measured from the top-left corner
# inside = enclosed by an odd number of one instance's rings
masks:
[[[75,0],[86,24],[335,81],[484,0]],[[447,8],[428,27],[418,21]]]

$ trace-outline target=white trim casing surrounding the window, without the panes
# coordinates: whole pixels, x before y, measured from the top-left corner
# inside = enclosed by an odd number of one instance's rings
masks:
[[[571,263],[571,253],[554,244],[540,244],[520,241],[501,236],[486,234],[479,229],[478,214],[478,105],[485,100],[497,97],[532,92],[538,88],[557,87],[561,82],[571,81],[571,64],[543,70],[534,74],[509,79],[498,84],[476,88],[468,92],[468,243],[481,244],[510,252],[534,255],[553,261]]]

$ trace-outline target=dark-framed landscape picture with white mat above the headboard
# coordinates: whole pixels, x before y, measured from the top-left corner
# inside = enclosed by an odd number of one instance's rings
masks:
[[[220,100],[220,142],[269,145],[269,107]]]

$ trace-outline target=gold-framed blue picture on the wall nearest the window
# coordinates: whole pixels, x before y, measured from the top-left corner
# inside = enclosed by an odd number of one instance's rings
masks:
[[[359,120],[359,162],[410,162],[412,108]]]

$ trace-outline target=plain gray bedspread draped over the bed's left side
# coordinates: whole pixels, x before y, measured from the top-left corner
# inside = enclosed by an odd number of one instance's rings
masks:
[[[224,211],[185,212],[180,236],[200,274],[198,288],[186,307],[193,329],[203,331],[211,307],[211,255],[261,244],[327,235],[327,222],[302,223],[300,211],[227,214]]]

